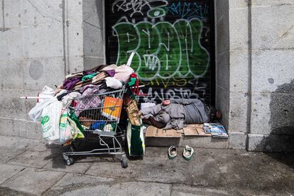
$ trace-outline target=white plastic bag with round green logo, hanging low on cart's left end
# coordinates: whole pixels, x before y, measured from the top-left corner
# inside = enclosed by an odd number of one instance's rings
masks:
[[[57,141],[60,138],[59,123],[62,112],[62,102],[57,99],[42,111],[41,125],[43,138],[48,141]]]

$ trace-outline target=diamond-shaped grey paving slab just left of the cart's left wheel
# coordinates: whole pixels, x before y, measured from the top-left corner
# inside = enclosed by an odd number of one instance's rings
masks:
[[[9,160],[9,164],[23,165],[33,168],[43,168],[50,160],[53,160],[54,155],[50,151],[26,151],[21,155]]]

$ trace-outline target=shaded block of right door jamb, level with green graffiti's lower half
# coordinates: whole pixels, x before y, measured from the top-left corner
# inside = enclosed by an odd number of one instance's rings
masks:
[[[217,55],[217,85],[226,91],[229,91],[229,52]]]

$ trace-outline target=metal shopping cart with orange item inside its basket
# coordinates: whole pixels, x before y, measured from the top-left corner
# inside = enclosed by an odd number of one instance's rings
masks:
[[[66,165],[74,163],[73,156],[109,155],[120,156],[121,166],[128,166],[126,153],[122,150],[124,131],[119,128],[122,100],[126,87],[111,92],[93,94],[73,100],[73,103],[99,102],[99,107],[83,108],[77,104],[70,107],[78,114],[84,126],[85,138],[74,139],[62,153]],[[86,144],[86,147],[85,147]],[[88,145],[87,145],[88,144]]]

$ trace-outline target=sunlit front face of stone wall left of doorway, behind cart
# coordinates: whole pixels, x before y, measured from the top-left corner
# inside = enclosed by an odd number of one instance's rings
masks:
[[[45,85],[83,70],[82,3],[62,0],[0,1],[0,135],[40,138],[28,119]]]

